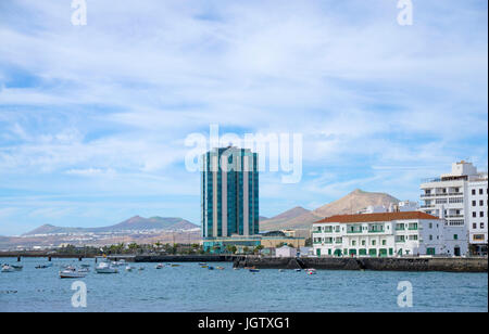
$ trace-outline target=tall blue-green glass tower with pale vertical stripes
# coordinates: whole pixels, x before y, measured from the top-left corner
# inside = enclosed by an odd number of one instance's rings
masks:
[[[203,239],[259,234],[258,154],[235,146],[212,149],[202,164]]]

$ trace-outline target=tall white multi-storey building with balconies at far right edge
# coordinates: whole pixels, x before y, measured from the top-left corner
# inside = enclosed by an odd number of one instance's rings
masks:
[[[462,160],[450,174],[424,180],[421,189],[421,209],[446,220],[446,246],[455,251],[465,243],[472,254],[487,255],[487,172]]]

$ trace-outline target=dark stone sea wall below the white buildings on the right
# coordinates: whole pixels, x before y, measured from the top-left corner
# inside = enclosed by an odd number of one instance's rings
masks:
[[[487,257],[475,258],[272,258],[236,257],[234,267],[384,271],[487,272]]]

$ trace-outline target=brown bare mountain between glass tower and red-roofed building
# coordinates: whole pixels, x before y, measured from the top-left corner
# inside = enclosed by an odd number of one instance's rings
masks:
[[[390,204],[398,204],[399,200],[386,193],[366,192],[356,189],[348,195],[325,204],[314,210],[308,210],[302,207],[294,207],[280,215],[272,217],[267,220],[260,221],[261,231],[272,230],[300,230],[311,229],[314,221],[330,217],[334,215],[355,214],[369,205],[384,205],[389,207]]]

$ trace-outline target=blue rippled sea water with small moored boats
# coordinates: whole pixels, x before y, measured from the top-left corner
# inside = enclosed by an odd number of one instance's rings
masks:
[[[15,259],[0,258],[1,264]],[[269,269],[259,273],[202,269],[198,264],[156,270],[155,264],[131,264],[146,270],[97,274],[95,260],[25,258],[23,271],[0,272],[0,311],[488,311],[487,273],[305,272]],[[89,264],[85,279],[87,308],[73,308],[76,280],[60,279],[61,265]],[[399,308],[400,281],[413,285],[413,307]],[[13,292],[16,293],[13,293]]]

